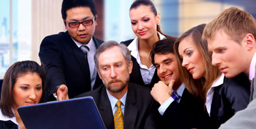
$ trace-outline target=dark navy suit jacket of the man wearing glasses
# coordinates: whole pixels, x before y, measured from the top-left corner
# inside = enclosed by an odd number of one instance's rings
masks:
[[[103,42],[92,37],[96,48]],[[72,40],[68,31],[47,36],[42,40],[39,52],[40,60],[46,65],[46,101],[55,100],[53,89],[60,84],[68,87],[68,96],[76,95],[91,90],[91,77],[86,67],[83,51]],[[94,89],[102,85],[98,74]]]

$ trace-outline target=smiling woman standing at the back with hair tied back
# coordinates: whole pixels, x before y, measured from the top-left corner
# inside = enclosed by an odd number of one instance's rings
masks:
[[[149,60],[152,45],[168,36],[160,30],[160,14],[150,0],[136,0],[130,6],[132,30],[137,36],[133,40],[122,41],[132,54],[134,62],[130,82],[152,88],[159,81],[156,68]]]

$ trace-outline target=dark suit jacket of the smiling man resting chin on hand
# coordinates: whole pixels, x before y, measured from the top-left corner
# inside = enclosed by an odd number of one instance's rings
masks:
[[[173,101],[165,110],[164,128],[205,128],[208,114],[204,110],[203,100],[191,95],[185,88],[180,103]]]

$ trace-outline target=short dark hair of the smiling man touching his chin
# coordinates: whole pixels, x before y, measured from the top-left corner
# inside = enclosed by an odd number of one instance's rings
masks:
[[[155,54],[167,54],[173,53],[174,54],[174,43],[177,40],[177,37],[169,36],[167,39],[159,40],[154,43],[152,50],[150,52],[150,60],[154,65],[154,55]]]

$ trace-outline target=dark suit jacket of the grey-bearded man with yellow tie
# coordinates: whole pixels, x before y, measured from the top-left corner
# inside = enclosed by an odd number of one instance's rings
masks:
[[[104,85],[93,91],[83,93],[78,97],[92,96],[106,128],[114,128],[113,112]],[[158,110],[154,108],[154,99],[150,89],[129,83],[124,107],[124,128],[158,128]]]

